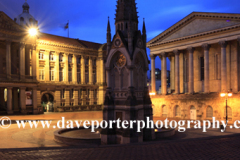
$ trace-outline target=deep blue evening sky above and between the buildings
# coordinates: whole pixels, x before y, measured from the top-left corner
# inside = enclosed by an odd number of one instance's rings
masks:
[[[25,0],[0,0],[0,10],[13,19],[22,13],[24,2]],[[109,16],[112,36],[115,33],[116,0],[28,0],[27,2],[30,5],[30,14],[39,22],[41,32],[67,37],[67,31],[63,27],[69,20],[71,38],[106,43]],[[239,0],[136,0],[136,2],[139,29],[142,29],[145,18],[148,41],[193,11],[240,13]],[[160,68],[160,66],[160,60],[157,58],[156,67]]]

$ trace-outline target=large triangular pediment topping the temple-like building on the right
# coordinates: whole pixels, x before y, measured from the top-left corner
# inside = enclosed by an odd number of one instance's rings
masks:
[[[213,31],[240,24],[240,14],[193,12],[157,37],[148,45]]]

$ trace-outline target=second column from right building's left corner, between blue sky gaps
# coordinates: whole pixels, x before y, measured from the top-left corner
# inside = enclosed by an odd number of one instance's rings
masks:
[[[161,54],[161,60],[162,60],[162,74],[161,74],[161,83],[162,83],[162,94],[167,94],[167,62],[166,62],[166,53]]]

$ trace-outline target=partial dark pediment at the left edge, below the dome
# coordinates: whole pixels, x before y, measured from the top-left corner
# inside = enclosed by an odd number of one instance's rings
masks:
[[[4,12],[0,12],[0,30],[1,32],[23,32],[23,28],[8,17]]]

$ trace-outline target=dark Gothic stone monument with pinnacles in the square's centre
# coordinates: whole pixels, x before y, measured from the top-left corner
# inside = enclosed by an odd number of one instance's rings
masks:
[[[146,53],[146,27],[138,30],[135,0],[118,0],[115,18],[116,33],[111,40],[110,24],[107,27],[108,55],[105,63],[107,90],[103,120],[152,120],[152,103],[147,88],[148,58]],[[126,144],[152,140],[154,129],[132,128],[103,129],[102,144]]]

